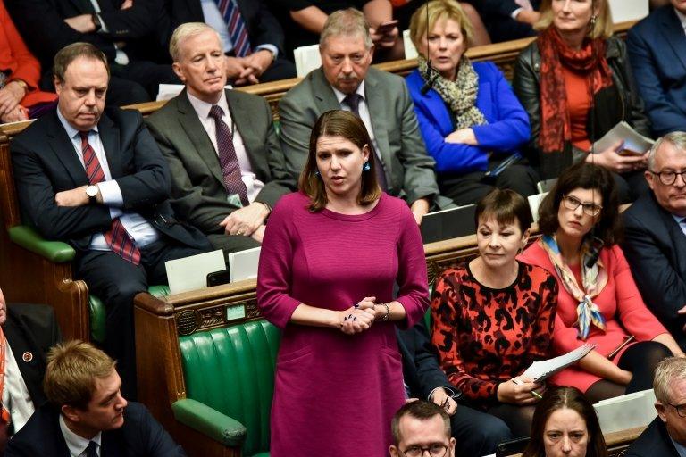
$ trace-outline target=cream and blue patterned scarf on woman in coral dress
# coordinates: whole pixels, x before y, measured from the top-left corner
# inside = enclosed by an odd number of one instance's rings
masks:
[[[557,276],[562,280],[562,285],[566,291],[579,302],[576,307],[577,320],[575,324],[579,328],[579,337],[585,341],[589,337],[591,325],[605,331],[605,318],[598,309],[598,305],[591,300],[598,296],[607,284],[607,270],[603,262],[598,259],[598,262],[595,262],[591,268],[586,268],[586,261],[590,253],[588,245],[584,243],[581,247],[581,280],[583,284],[579,287],[574,273],[562,259],[555,236],[540,237],[538,243],[548,253],[548,258],[550,262],[553,262]]]

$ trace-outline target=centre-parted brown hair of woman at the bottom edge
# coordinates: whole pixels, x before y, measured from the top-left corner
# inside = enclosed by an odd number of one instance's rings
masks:
[[[531,421],[531,441],[526,446],[522,457],[540,457],[546,455],[543,435],[546,433],[546,422],[553,412],[562,409],[576,411],[586,423],[589,433],[589,445],[586,457],[607,457],[607,446],[596,411],[589,400],[576,387],[557,387],[543,395],[543,400],[536,405]]]

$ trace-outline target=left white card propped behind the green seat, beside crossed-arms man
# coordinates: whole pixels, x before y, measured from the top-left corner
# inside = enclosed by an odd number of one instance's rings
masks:
[[[164,263],[169,279],[169,292],[179,294],[207,287],[207,274],[226,270],[221,249],[211,253],[199,253],[183,259]]]

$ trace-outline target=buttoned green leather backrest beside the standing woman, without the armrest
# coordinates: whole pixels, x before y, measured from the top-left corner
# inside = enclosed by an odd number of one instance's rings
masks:
[[[188,398],[246,426],[243,455],[269,450],[280,332],[266,320],[179,338]]]

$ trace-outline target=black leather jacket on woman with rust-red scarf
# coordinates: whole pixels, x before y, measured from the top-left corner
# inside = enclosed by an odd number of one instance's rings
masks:
[[[586,127],[590,141],[603,137],[621,120],[628,122],[641,135],[650,136],[650,123],[634,87],[623,41],[617,37],[608,38],[605,57],[612,71],[614,85],[600,90],[594,96],[595,113],[589,116]],[[564,151],[558,153],[544,154],[539,149],[540,52],[536,41],[526,46],[517,57],[513,88],[531,121],[531,141],[526,154],[530,162],[539,168],[541,179],[556,178],[586,153],[573,148],[571,143],[565,144]]]

